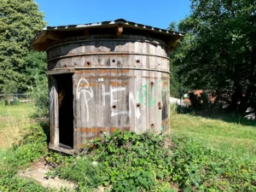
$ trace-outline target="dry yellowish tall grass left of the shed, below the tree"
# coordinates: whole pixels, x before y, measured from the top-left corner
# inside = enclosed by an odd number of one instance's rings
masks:
[[[35,108],[32,103],[20,103],[17,106],[0,105],[0,149],[11,147],[20,137],[20,131],[32,124],[30,118]]]

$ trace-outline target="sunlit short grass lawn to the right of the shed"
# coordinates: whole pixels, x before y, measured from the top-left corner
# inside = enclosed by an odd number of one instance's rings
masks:
[[[207,118],[172,112],[171,130],[177,137],[188,137],[202,146],[256,162],[256,122],[241,124],[237,119],[229,115]]]

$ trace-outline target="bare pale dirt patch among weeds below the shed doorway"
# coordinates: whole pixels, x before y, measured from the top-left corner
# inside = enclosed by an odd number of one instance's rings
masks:
[[[36,163],[33,164],[32,167],[26,169],[25,171],[18,172],[18,176],[20,177],[27,177],[27,178],[33,178],[36,182],[41,184],[44,188],[55,188],[60,190],[61,188],[70,189],[71,191],[74,191],[74,189],[77,187],[76,183],[69,182],[67,180],[63,180],[59,177],[55,178],[47,178],[45,177],[45,173],[50,171],[50,166],[46,164],[44,159],[38,160]]]

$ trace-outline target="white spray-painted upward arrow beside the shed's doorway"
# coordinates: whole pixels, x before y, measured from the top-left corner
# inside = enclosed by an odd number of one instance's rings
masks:
[[[81,94],[84,97],[84,104],[85,104],[85,109],[86,109],[86,120],[87,120],[87,122],[89,122],[90,114],[89,114],[88,102],[93,97],[93,92],[91,90],[90,84],[88,83],[88,81],[86,79],[82,78],[79,80],[76,93],[77,93],[78,100],[80,99]],[[81,112],[81,113],[83,113],[83,112]]]

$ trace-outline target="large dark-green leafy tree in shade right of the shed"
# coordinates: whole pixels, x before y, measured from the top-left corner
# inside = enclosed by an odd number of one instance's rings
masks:
[[[230,110],[256,109],[256,3],[192,0],[173,66],[191,89],[214,90]],[[217,101],[219,101],[217,99]]]

